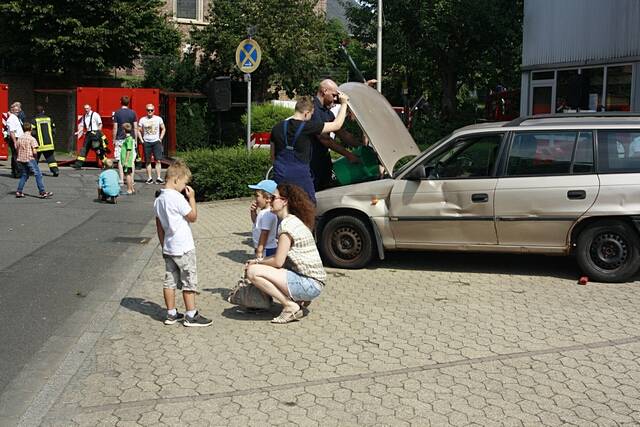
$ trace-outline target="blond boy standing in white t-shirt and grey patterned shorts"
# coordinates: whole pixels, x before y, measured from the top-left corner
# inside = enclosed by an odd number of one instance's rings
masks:
[[[177,160],[167,169],[165,188],[153,203],[166,271],[163,293],[167,317],[164,324],[173,325],[184,320],[184,326],[209,326],[213,322],[196,310],[196,246],[189,223],[196,221],[198,213],[195,193],[187,185],[190,180],[191,171],[184,162]],[[176,310],[176,288],[182,290],[184,315]]]

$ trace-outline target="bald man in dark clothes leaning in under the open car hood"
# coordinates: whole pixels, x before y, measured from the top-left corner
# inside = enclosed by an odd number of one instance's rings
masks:
[[[327,123],[335,120],[335,116],[331,112],[331,107],[333,107],[337,99],[338,85],[330,79],[320,82],[318,92],[313,98],[314,110],[311,122]],[[335,134],[342,142],[351,147],[362,145],[360,141],[344,129],[339,129]],[[324,190],[332,185],[331,174],[333,164],[331,162],[331,155],[329,154],[330,149],[342,154],[351,163],[358,163],[360,161],[358,156],[338,144],[329,135],[317,133],[313,135],[311,139],[311,171],[313,173],[313,184],[316,191]]]

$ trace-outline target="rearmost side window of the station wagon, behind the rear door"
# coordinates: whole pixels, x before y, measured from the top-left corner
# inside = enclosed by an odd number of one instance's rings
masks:
[[[640,172],[640,131],[598,131],[598,171]]]

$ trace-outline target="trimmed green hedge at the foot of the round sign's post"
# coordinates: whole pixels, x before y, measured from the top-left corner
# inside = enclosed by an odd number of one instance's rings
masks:
[[[247,185],[263,180],[271,167],[269,150],[242,146],[193,150],[180,157],[191,169],[199,201],[250,196]]]

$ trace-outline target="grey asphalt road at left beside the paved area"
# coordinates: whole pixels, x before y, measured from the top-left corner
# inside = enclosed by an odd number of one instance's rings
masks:
[[[138,194],[104,204],[96,199],[98,174],[62,168],[54,178],[45,171],[53,198],[35,197],[31,177],[28,197],[16,199],[18,181],[0,162],[0,395],[63,324],[82,329],[88,317],[79,313],[97,305],[92,295],[110,295],[120,285],[132,264],[124,251],[140,245],[129,238],[155,238],[140,233],[153,218],[159,187],[144,184],[138,171]]]

